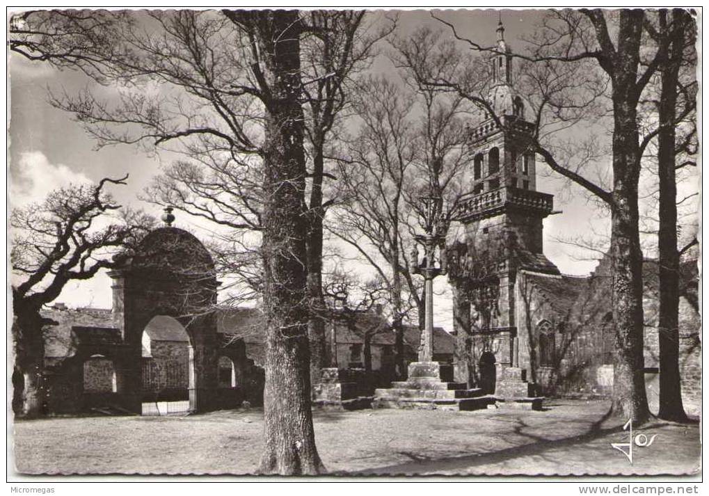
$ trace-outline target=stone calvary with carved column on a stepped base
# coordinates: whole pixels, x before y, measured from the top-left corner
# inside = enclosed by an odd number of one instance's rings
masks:
[[[495,402],[480,388],[468,389],[466,383],[452,382],[452,367],[433,361],[433,279],[446,274],[445,252],[436,266],[435,252],[443,237],[435,233],[435,208],[440,198],[423,198],[427,211],[426,233],[416,237],[425,249],[423,261],[418,264],[418,251],[413,249],[411,259],[417,264],[414,274],[425,280],[425,327],[421,333],[418,361],[408,366],[408,379],[391,383],[389,389],[374,392],[374,408],[416,408],[423,410],[477,410]]]

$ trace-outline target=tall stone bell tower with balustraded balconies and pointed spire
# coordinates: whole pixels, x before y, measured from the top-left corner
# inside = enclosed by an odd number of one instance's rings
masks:
[[[515,281],[519,271],[559,276],[543,251],[542,220],[553,196],[537,191],[534,124],[515,91],[514,58],[497,28],[490,57],[489,108],[469,129],[470,191],[459,202],[464,239],[449,247],[458,276],[450,278],[468,300],[472,333],[498,365],[516,366]]]

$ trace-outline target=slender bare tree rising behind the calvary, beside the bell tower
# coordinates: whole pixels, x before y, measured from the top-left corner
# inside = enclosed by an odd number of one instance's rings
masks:
[[[442,94],[428,84],[437,74],[464,74],[473,66],[462,57],[451,40],[443,39],[440,31],[419,28],[406,38],[392,40],[393,62],[401,69],[407,86],[415,94],[423,115],[415,127],[418,153],[414,171],[407,178],[404,196],[415,220],[407,218],[406,236],[411,243],[415,234],[423,232],[428,213],[420,196],[436,198],[434,210],[437,232],[445,237],[459,198],[467,193],[465,169],[470,161],[467,147],[471,106],[466,98],[457,94]],[[424,327],[425,286],[413,279],[413,266],[418,261],[404,257],[403,278],[408,293],[418,309],[419,327]]]

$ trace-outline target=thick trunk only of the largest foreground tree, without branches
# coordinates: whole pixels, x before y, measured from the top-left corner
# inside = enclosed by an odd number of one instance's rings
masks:
[[[262,259],[266,318],[260,473],[323,473],[311,413],[303,111],[297,11],[257,13],[269,87],[264,133]]]

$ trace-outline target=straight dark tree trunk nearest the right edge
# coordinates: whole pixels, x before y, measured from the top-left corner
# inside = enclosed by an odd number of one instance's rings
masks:
[[[677,186],[675,127],[677,79],[683,51],[683,13],[674,14],[674,39],[669,63],[661,76],[659,100],[659,361],[658,417],[686,422],[679,375],[679,252],[677,249]]]

